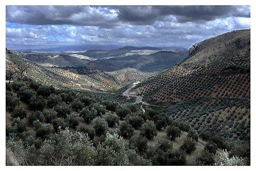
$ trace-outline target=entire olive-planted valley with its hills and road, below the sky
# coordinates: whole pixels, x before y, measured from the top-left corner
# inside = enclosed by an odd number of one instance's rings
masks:
[[[189,50],[6,48],[6,163],[250,165],[250,92],[250,29]]]

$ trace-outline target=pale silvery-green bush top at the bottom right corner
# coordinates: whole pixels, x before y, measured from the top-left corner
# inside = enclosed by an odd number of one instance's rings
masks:
[[[223,150],[218,157],[216,158],[216,162],[214,165],[216,166],[244,166],[243,158],[239,158],[237,156],[228,157],[227,150]]]

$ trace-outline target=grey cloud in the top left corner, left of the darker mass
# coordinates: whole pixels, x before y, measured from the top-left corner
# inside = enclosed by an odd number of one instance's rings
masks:
[[[90,6],[7,6],[6,21],[30,25],[111,27],[118,23],[112,13]]]

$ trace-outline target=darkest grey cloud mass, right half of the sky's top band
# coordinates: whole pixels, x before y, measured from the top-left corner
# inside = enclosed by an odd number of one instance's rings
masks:
[[[118,19],[132,24],[152,24],[172,15],[177,22],[209,21],[225,17],[250,17],[250,6],[122,6]]]

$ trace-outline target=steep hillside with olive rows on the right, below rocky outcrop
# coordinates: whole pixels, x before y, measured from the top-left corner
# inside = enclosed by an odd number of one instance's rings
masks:
[[[133,91],[177,121],[250,147],[250,30],[196,43],[187,59]]]

